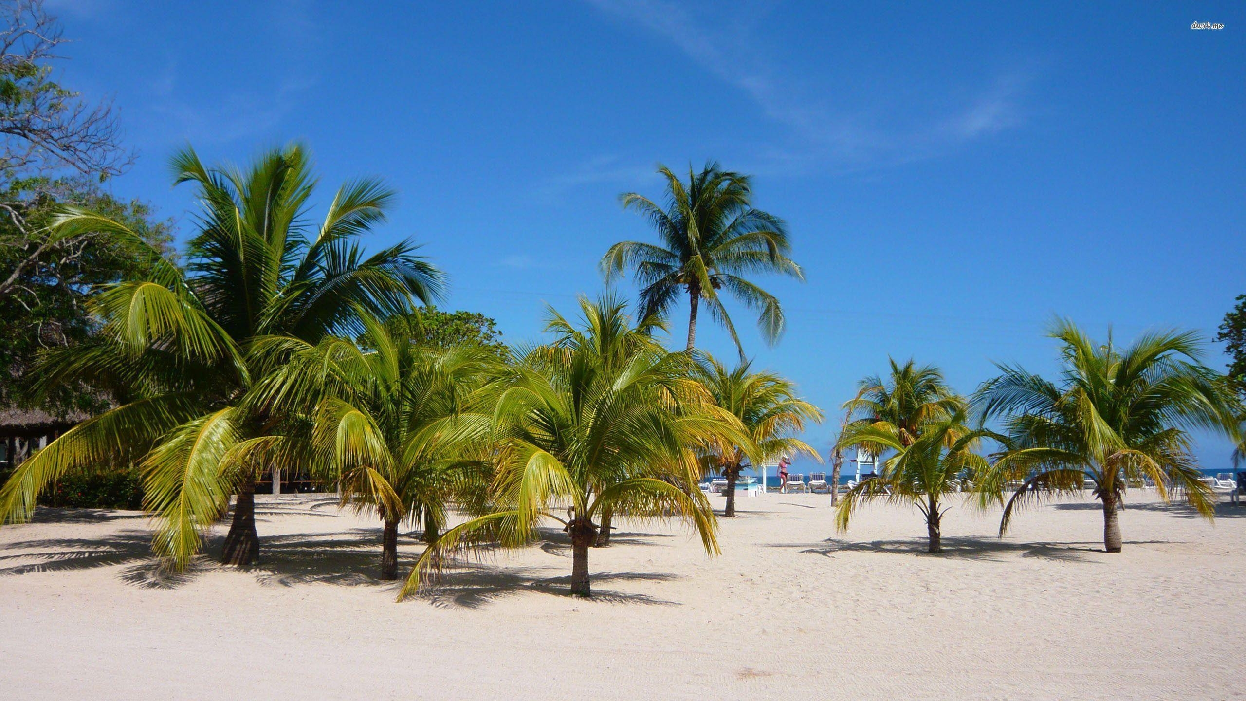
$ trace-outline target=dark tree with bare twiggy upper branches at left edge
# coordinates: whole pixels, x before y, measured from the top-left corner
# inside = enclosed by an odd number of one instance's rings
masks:
[[[169,225],[150,221],[145,205],[102,188],[132,153],[107,101],[88,102],[56,80],[65,41],[42,0],[0,0],[0,407],[26,404],[25,375],[40,350],[91,334],[95,287],[140,272],[136,256],[91,232],[52,236],[59,206],[117,217],[153,243],[169,239]],[[41,408],[93,412],[106,402],[100,388],[67,387]]]

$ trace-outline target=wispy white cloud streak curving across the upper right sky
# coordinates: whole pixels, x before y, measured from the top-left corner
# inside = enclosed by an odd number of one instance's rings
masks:
[[[1019,97],[1024,75],[1004,75],[958,107],[941,115],[932,105],[911,105],[916,115],[883,120],[877,106],[836,105],[812,94],[801,80],[769,60],[758,24],[774,2],[698,14],[669,0],[584,0],[603,14],[639,26],[670,42],[703,70],[741,91],[768,118],[786,127],[763,147],[768,167],[860,170],[937,156],[958,145],[1023,123]],[[721,0],[725,1],[725,0]],[[729,16],[729,24],[711,16]],[[886,91],[887,86],[880,86]],[[888,110],[895,112],[895,110]]]

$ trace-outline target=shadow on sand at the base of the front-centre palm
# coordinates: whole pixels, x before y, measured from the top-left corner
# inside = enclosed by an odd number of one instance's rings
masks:
[[[491,565],[457,563],[454,573],[442,575],[441,581],[412,599],[434,606],[461,606],[480,609],[486,604],[536,591],[554,596],[571,596],[571,575],[537,576],[537,568],[496,568]],[[599,589],[603,581],[669,581],[674,575],[660,573],[594,573],[591,575],[593,596],[591,601],[606,604],[678,605],[677,601],[657,599],[647,594]]]

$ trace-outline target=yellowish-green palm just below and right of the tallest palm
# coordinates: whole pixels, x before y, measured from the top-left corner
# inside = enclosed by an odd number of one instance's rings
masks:
[[[822,412],[796,397],[791,382],[771,372],[753,372],[750,363],[728,370],[713,358],[701,363],[700,380],[714,403],[739,419],[749,438],[748,444],[724,440],[710,444],[710,463],[726,478],[724,516],[735,516],[735,481],[744,468],[764,467],[775,458],[796,453],[821,460],[817,450],[792,434],[804,430],[806,420],[821,422]]]

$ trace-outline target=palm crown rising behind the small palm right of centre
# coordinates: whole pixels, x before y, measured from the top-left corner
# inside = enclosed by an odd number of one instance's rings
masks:
[[[855,398],[844,403],[844,409],[852,420],[847,422],[847,435],[851,430],[865,427],[891,435],[900,445],[912,445],[926,424],[949,420],[958,410],[966,408],[963,398],[958,397],[943,382],[943,373],[933,365],[918,367],[912,359],[905,364],[888,358],[891,372],[883,379],[870,375],[857,383]],[[842,448],[842,438],[837,443]],[[860,442],[873,455],[891,448],[887,443]]]

